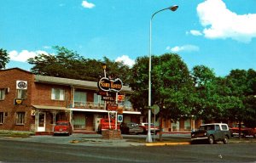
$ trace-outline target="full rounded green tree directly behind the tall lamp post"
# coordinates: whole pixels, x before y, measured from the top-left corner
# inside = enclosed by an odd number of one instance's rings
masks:
[[[190,115],[193,82],[187,65],[174,53],[152,56],[152,65],[151,105],[160,106],[160,122],[162,115],[173,121]],[[131,95],[131,103],[145,114],[148,110],[148,57],[138,58],[132,72],[130,86],[134,93]]]

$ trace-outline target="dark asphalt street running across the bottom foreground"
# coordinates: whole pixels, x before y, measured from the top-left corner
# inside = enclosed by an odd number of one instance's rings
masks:
[[[256,143],[94,147],[0,139],[0,162],[255,162]]]

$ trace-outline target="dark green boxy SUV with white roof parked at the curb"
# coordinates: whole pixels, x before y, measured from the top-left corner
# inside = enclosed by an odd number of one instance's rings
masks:
[[[225,123],[204,124],[198,130],[191,132],[191,143],[206,141],[210,144],[222,141],[229,143],[229,126]]]

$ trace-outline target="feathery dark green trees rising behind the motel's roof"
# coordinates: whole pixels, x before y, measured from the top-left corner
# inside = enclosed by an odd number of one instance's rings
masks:
[[[123,63],[111,61],[106,57],[103,61],[85,59],[73,50],[59,46],[53,48],[56,54],[42,53],[28,59],[28,63],[34,65],[32,73],[97,82],[103,74],[102,65],[105,63],[109,70],[108,75],[120,76],[123,82],[129,84],[130,69]]]

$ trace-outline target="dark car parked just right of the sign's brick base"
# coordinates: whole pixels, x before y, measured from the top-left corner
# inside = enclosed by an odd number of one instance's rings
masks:
[[[143,128],[140,127],[137,123],[134,122],[128,122],[128,123],[122,123],[120,125],[121,133],[124,134],[140,134],[143,133]]]

